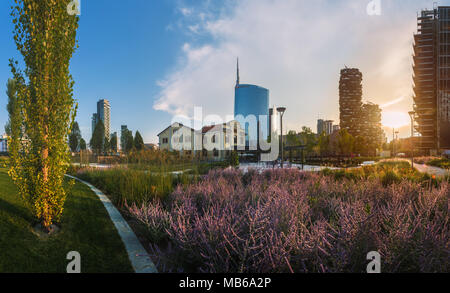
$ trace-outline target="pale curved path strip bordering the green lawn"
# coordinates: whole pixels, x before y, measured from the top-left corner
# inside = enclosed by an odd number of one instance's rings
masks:
[[[131,261],[131,265],[133,266],[134,271],[141,274],[157,273],[158,270],[156,269],[155,264],[150,259],[147,251],[144,249],[144,247],[134,234],[133,230],[131,230],[128,223],[125,221],[116,207],[112,204],[109,198],[91,184],[70,175],[66,176],[78,180],[83,184],[86,184],[99,197],[100,201],[103,203],[103,206],[108,211],[111,221],[119,232],[120,238],[122,238],[122,242],[125,245],[125,249],[128,253],[128,258]]]

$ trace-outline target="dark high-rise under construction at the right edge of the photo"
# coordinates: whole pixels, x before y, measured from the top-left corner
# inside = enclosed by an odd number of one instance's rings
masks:
[[[413,59],[416,147],[436,154],[450,149],[450,6],[420,13]]]

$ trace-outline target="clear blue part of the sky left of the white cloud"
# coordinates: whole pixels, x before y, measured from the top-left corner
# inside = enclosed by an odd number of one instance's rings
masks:
[[[0,1],[0,132],[7,121],[8,59],[17,58],[11,3]],[[176,63],[185,38],[183,32],[168,29],[179,17],[177,2],[83,0],[81,4],[80,48],[71,61],[71,72],[79,103],[76,120],[83,136],[90,138],[96,101],[105,98],[112,105],[114,131],[126,124],[133,131],[138,129],[146,141],[154,141],[153,130],[171,121],[169,113],[153,110],[156,81]]]

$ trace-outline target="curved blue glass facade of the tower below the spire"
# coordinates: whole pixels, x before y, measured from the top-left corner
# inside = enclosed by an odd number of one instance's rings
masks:
[[[269,90],[250,84],[238,84],[235,89],[234,116],[245,125],[246,144],[258,139],[257,127],[264,139],[269,135]],[[252,125],[253,124],[253,125]]]

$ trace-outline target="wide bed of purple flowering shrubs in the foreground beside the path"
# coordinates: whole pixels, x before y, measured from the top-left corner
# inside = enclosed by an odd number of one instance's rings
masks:
[[[354,181],[274,170],[212,171],[129,212],[161,271],[449,272],[449,183]]]

